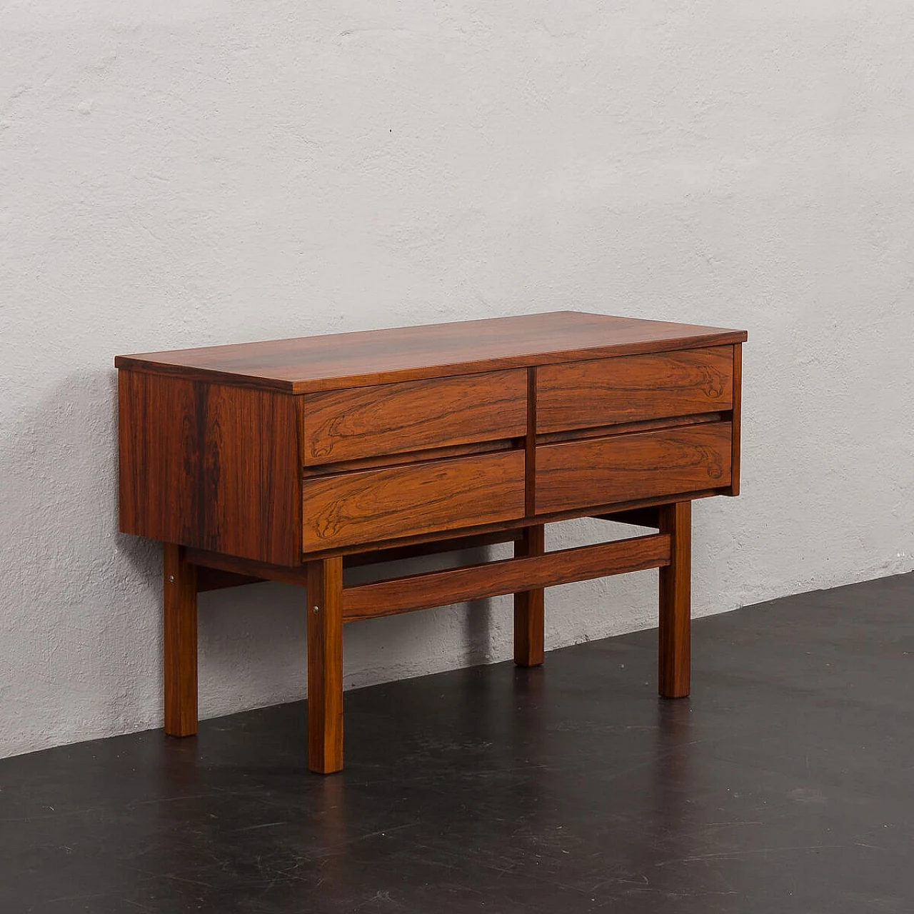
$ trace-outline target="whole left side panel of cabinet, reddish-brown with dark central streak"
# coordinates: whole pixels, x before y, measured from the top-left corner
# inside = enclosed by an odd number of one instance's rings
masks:
[[[121,371],[121,530],[301,562],[291,395]]]

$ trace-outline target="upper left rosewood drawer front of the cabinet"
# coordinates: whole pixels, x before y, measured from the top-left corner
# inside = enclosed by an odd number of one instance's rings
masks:
[[[526,434],[526,371],[436,377],[299,399],[302,465]]]

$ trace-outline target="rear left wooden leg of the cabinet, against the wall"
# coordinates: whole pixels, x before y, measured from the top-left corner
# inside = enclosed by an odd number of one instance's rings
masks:
[[[185,549],[164,544],[165,733],[197,732],[197,567]]]

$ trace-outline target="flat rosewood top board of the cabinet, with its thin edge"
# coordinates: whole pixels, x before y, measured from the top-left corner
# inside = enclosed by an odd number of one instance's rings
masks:
[[[119,368],[301,394],[498,368],[728,345],[743,330],[554,311],[117,356]]]

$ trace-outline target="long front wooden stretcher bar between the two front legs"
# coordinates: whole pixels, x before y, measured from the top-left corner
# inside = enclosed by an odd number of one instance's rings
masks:
[[[537,590],[572,580],[660,568],[670,560],[669,537],[654,534],[548,552],[530,558],[468,565],[360,584],[343,590],[345,622],[430,609],[464,600]]]

